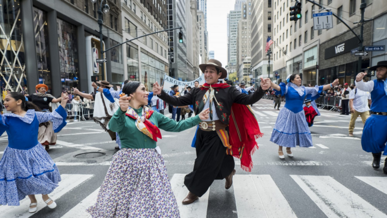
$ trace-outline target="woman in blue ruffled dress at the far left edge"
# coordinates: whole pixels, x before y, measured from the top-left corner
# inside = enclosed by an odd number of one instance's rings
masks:
[[[0,204],[19,206],[27,195],[31,200],[29,212],[37,211],[35,194],[42,194],[49,208],[56,203],[48,197],[60,182],[54,161],[38,142],[39,124],[51,121],[54,132],[66,126],[64,110],[68,100],[62,93],[61,103],[54,112],[43,113],[26,101],[19,92],[7,94],[4,100],[7,113],[0,116],[0,135],[8,134],[8,146],[0,160]]]

